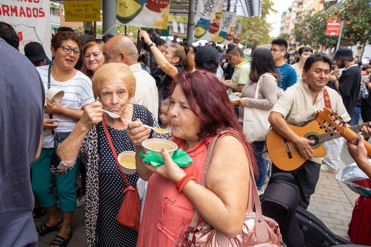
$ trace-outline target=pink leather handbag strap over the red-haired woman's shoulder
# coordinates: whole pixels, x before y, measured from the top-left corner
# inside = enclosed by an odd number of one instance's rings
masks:
[[[204,163],[204,167],[203,167],[203,171],[202,171],[202,177],[201,177],[201,185],[204,186],[204,187],[206,187],[206,174],[207,174],[207,170],[209,169],[209,166],[210,166],[210,163],[211,163],[211,158],[213,157],[213,155],[215,153],[216,146],[219,143],[219,141],[221,140],[221,138],[223,138],[224,136],[227,136],[227,135],[231,135],[231,136],[236,137],[237,140],[239,140],[240,143],[243,145],[242,141],[240,140],[240,138],[236,134],[230,133],[230,132],[227,132],[227,131],[222,131],[219,135],[215,136],[213,138],[213,140],[211,140],[209,148],[208,148],[207,153],[206,153],[206,159],[205,159],[205,163]],[[256,233],[256,237],[259,240],[264,241],[268,237],[268,230],[267,230],[265,220],[263,219],[262,207],[260,205],[259,195],[257,193],[257,188],[256,188],[254,174],[253,174],[252,163],[251,163],[250,156],[247,153],[246,149],[245,149],[245,154],[246,154],[246,157],[247,157],[247,161],[249,163],[249,170],[250,170],[249,198],[248,198],[248,201],[247,201],[246,211],[247,212],[248,211],[253,211],[253,207],[254,207],[254,204],[255,204],[255,211],[256,211],[255,212],[256,213],[255,233]],[[200,218],[200,214],[195,210],[193,218],[192,218],[192,220],[189,224],[188,229],[189,228],[196,229],[199,218]],[[188,240],[190,239],[191,236],[193,236],[193,234],[189,234]]]

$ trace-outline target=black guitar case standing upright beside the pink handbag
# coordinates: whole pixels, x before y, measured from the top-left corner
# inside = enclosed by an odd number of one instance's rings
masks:
[[[294,178],[288,173],[275,173],[262,195],[263,215],[275,219],[287,247],[302,247],[304,235],[296,221],[296,207],[299,190],[293,184]]]

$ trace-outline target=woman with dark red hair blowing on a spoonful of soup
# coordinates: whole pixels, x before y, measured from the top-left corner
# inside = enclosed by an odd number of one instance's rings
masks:
[[[195,209],[201,215],[198,223],[206,220],[226,237],[237,236],[243,227],[249,196],[245,150],[253,159],[224,85],[203,70],[177,74],[171,86],[168,115],[171,141],[188,153],[193,163],[178,167],[166,148],[161,150],[165,163],[157,168],[136,157],[138,175],[148,181],[137,246],[183,246]],[[223,131],[236,134],[243,144],[231,135],[221,138],[207,170],[207,187],[201,186],[210,141]],[[141,144],[149,133],[139,120],[129,123],[128,137],[137,153],[144,151]],[[188,176],[193,180],[185,180]],[[176,188],[179,181],[185,183]]]

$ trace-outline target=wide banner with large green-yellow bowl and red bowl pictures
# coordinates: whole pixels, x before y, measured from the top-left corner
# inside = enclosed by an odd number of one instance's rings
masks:
[[[167,29],[170,0],[117,0],[118,24]]]

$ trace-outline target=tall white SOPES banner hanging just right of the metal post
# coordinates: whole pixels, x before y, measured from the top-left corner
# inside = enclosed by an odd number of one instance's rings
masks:
[[[198,40],[217,41],[223,0],[198,0],[194,37]]]

